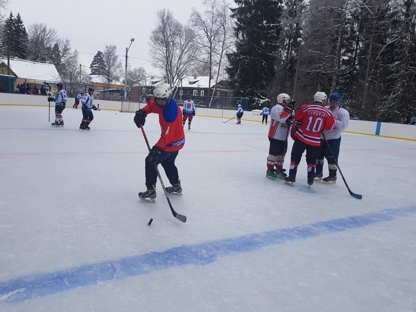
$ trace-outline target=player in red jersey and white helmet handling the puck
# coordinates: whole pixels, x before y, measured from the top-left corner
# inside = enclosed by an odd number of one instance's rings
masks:
[[[182,195],[179,174],[175,166],[175,159],[179,150],[184,147],[185,134],[182,125],[182,112],[175,100],[171,98],[171,87],[164,83],[155,87],[153,98],[150,98],[143,109],[135,114],[135,123],[141,128],[146,122],[146,116],[150,113],[159,115],[159,124],[162,130],[159,141],[150,150],[145,161],[146,188],[139,193],[141,200],[154,202],[156,198],[157,171],[155,164],[161,164],[171,182],[171,187],[166,187],[168,193]]]

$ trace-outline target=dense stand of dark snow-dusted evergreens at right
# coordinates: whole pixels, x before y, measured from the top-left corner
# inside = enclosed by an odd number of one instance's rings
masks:
[[[227,73],[253,107],[281,92],[307,103],[323,91],[343,94],[359,119],[416,114],[415,0],[235,2]]]

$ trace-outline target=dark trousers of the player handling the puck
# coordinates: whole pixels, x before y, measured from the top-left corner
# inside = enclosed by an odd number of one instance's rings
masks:
[[[162,165],[166,173],[166,177],[168,177],[168,180],[172,185],[179,182],[179,173],[177,172],[177,168],[175,166],[175,159],[178,153],[178,151],[165,152],[162,150],[162,153],[157,160],[157,164]],[[145,161],[145,163],[146,187],[148,189],[153,189],[157,181],[157,171],[153,162],[150,163]]]

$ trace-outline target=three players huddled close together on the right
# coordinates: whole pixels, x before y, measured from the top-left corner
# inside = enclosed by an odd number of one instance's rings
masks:
[[[338,155],[340,152],[341,134],[349,124],[349,113],[341,107],[341,94],[335,92],[329,96],[316,92],[314,103],[302,105],[296,113],[295,101],[288,94],[277,96],[277,105],[270,110],[270,141],[267,157],[266,177],[284,179],[293,186],[296,181],[297,166],[306,150],[307,184],[313,184],[315,178],[324,183],[336,183]],[[284,157],[288,146],[288,135],[293,139],[291,165],[287,175],[284,168]],[[329,175],[323,177],[324,158],[327,159]],[[316,170],[315,170],[316,169]]]

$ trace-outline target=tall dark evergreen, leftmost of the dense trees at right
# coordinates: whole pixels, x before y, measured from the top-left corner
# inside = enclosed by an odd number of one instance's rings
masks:
[[[234,96],[256,98],[267,96],[266,88],[275,78],[275,59],[281,33],[281,0],[234,0],[236,51],[227,54]]]

